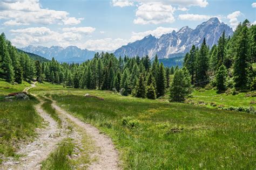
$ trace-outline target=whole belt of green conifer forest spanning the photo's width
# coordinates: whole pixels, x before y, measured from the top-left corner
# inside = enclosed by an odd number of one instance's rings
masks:
[[[256,89],[256,25],[248,20],[237,26],[232,37],[225,31],[218,44],[192,46],[184,58],[184,67],[165,67],[156,56],[117,58],[110,53],[96,53],[82,64],[32,60],[0,36],[0,78],[10,83],[22,81],[51,82],[64,87],[113,90],[127,96],[156,99],[170,91],[171,101],[182,102],[192,87],[211,83],[219,93]],[[170,75],[173,75],[172,80]]]

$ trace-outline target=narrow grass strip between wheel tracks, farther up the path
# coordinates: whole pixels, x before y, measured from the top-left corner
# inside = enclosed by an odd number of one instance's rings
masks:
[[[57,112],[55,109],[51,107],[52,101],[49,100],[48,98],[41,97],[42,100],[44,100],[44,103],[42,104],[43,109],[51,115],[51,117],[58,123],[58,126],[62,126],[62,121],[59,118]]]

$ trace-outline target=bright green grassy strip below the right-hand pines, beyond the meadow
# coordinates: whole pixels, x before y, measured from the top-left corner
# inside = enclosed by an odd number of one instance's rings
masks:
[[[204,101],[206,103],[216,103],[217,105],[226,105],[226,106],[233,106],[233,107],[255,107],[255,105],[250,104],[251,101],[255,101],[256,97],[245,97],[246,93],[239,93],[237,95],[226,95],[218,94],[216,90],[205,90],[205,91],[198,91],[194,90],[192,93],[193,101],[199,102]],[[211,107],[210,104],[207,107]]]

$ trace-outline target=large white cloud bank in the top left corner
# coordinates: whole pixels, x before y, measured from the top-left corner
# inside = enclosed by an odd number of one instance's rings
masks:
[[[66,11],[43,9],[39,0],[1,0],[0,19],[4,25],[79,24],[83,18],[69,17]]]

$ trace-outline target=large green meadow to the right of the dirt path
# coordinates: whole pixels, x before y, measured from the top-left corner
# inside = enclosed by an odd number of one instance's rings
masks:
[[[112,138],[125,169],[255,168],[255,115],[47,86],[38,93]]]

